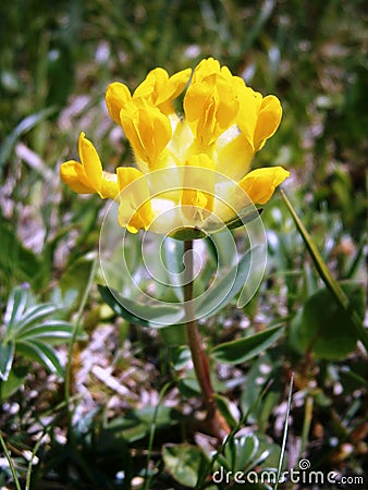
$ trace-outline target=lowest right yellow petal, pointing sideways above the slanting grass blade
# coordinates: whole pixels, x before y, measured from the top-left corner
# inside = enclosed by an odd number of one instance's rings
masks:
[[[247,193],[254,204],[265,205],[274,193],[274,189],[290,172],[282,167],[256,169],[247,173],[238,185]]]

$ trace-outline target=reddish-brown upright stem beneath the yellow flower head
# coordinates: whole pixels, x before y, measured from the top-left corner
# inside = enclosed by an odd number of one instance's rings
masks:
[[[228,422],[219,413],[214,392],[210,379],[210,370],[208,364],[208,357],[205,353],[200,334],[195,320],[194,311],[194,294],[193,294],[193,241],[188,240],[184,242],[184,308],[186,318],[186,335],[191,348],[192,360],[194,371],[196,373],[197,381],[200,387],[204,403],[207,411],[207,421],[209,424],[210,431],[220,441],[228,436],[231,431]]]

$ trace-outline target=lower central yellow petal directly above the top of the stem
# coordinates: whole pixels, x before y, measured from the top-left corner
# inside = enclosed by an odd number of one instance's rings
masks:
[[[213,210],[214,162],[205,154],[191,157],[185,163],[181,205],[191,221],[204,220]]]

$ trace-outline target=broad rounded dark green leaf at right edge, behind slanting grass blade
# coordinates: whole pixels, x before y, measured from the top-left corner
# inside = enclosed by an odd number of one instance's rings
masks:
[[[364,317],[364,287],[357,283],[342,283],[344,294],[360,318]],[[296,339],[303,351],[310,351],[323,359],[341,359],[356,347],[358,335],[352,317],[334,301],[327,289],[319,290],[304,305],[300,321],[296,322]]]

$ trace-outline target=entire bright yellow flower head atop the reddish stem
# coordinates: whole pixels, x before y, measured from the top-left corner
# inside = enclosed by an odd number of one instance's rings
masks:
[[[265,205],[290,174],[281,167],[248,171],[279,127],[277,97],[262,97],[212,58],[196,66],[188,84],[189,77],[191,70],[169,76],[156,69],[133,95],[124,84],[108,86],[109,114],[122,126],[136,168],[103,172],[84,133],[81,163],[61,166],[73,191],[119,196],[119,224],[132,233],[144,229],[188,240],[218,231],[213,215],[224,224],[234,222],[249,199]],[[173,101],[187,84],[180,117]]]

